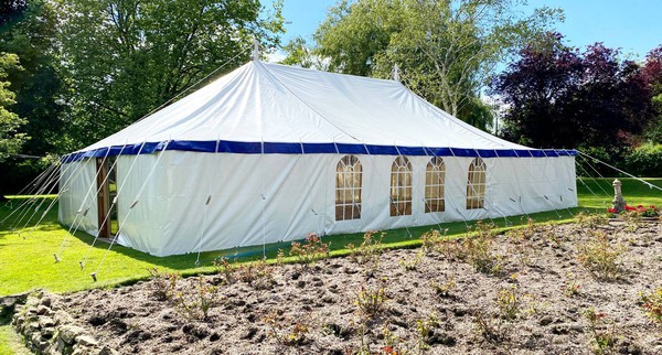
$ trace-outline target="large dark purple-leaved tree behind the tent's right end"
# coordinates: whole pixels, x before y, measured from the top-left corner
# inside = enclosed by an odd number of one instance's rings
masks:
[[[579,52],[551,34],[531,46],[493,83],[508,107],[506,139],[541,148],[622,152],[651,119],[641,67],[601,43]],[[553,133],[552,133],[553,132]]]

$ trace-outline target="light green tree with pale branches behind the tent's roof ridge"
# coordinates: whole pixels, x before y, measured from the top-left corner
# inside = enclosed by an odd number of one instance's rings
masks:
[[[478,98],[498,63],[541,36],[559,17],[538,9],[516,13],[511,0],[364,0],[331,8],[314,34],[313,53],[329,69],[386,78],[484,128]]]

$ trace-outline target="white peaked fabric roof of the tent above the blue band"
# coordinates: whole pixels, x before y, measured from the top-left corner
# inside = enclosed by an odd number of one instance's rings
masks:
[[[394,80],[250,62],[82,151],[168,140],[528,149]]]

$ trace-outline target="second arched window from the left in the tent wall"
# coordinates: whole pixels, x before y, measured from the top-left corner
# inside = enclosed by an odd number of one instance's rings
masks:
[[[412,214],[412,162],[397,157],[391,166],[391,216]]]

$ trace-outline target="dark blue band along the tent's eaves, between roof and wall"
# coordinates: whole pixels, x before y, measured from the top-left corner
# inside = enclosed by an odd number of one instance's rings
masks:
[[[235,141],[186,141],[146,142],[113,146],[85,152],[71,153],[62,162],[71,163],[87,158],[151,154],[163,150],[236,154],[370,154],[370,155],[429,155],[429,157],[480,157],[480,158],[552,158],[575,157],[576,150],[558,149],[466,149],[428,148],[342,143],[276,143]]]

